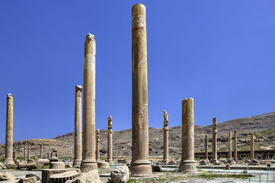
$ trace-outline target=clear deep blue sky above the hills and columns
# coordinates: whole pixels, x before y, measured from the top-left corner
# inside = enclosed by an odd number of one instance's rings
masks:
[[[84,42],[96,37],[96,127],[131,128],[131,6],[146,5],[149,127],[275,111],[275,1],[0,1],[0,143],[6,95],[14,141],[74,131]]]

